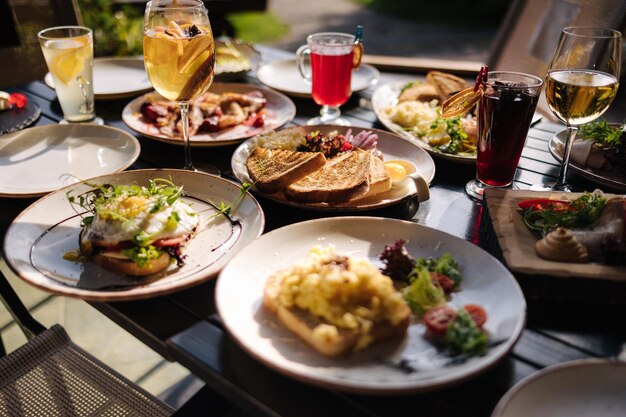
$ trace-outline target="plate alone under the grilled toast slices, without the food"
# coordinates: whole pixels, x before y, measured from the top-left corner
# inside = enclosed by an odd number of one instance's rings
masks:
[[[405,140],[397,135],[389,132],[385,132],[378,129],[365,129],[361,127],[344,127],[333,125],[315,125],[315,126],[301,126],[304,132],[312,132],[319,130],[324,133],[338,131],[339,133],[345,133],[348,129],[352,130],[352,134],[356,135],[363,130],[368,130],[378,135],[378,149],[383,153],[385,161],[393,159],[403,159],[412,162],[417,168],[417,173],[430,184],[435,177],[435,163],[433,159],[424,152],[420,147],[415,146],[413,143]],[[257,146],[257,138],[251,138],[242,143],[233,153],[231,159],[231,169],[235,177],[241,182],[252,182],[248,175],[248,169],[246,168],[246,160],[250,155],[250,152]],[[426,194],[427,190],[424,190]],[[376,194],[371,197],[362,198],[359,200],[349,201],[347,203],[329,205],[327,203],[295,203],[287,200],[282,193],[276,194],[263,194],[264,197],[274,200],[276,202],[287,204],[293,207],[300,207],[311,210],[328,210],[328,211],[359,211],[359,210],[372,210],[381,207],[386,207],[392,204],[396,204],[406,198],[413,197],[418,194],[418,184],[413,181],[405,181],[401,186],[394,186],[391,190]],[[424,197],[424,196],[422,196]],[[422,197],[419,199],[421,200]],[[428,199],[428,197],[424,197]]]

